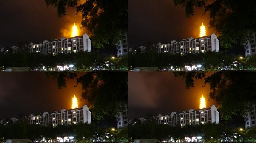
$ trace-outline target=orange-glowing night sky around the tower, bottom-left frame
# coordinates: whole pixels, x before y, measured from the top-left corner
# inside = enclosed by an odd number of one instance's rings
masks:
[[[79,73],[82,76],[84,73]],[[0,120],[71,109],[72,98],[76,95],[78,107],[90,104],[81,100],[82,87],[76,80],[67,80],[67,88],[58,89],[57,80],[42,72],[0,72]],[[107,122],[107,123],[105,123]],[[116,126],[116,119],[109,118],[101,124]]]

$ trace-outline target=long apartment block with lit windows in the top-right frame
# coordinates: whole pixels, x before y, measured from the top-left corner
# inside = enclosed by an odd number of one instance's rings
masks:
[[[184,39],[183,41],[177,42],[173,40],[166,44],[158,45],[158,52],[166,52],[170,54],[180,53],[184,55],[185,53],[199,53],[205,51],[219,51],[219,40],[213,33],[210,36],[203,36],[197,39],[193,37],[189,39]]]

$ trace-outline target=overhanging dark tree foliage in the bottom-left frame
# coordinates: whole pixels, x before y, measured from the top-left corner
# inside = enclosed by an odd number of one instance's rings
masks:
[[[58,80],[58,88],[66,87],[67,79],[76,79],[82,85],[82,98],[92,105],[90,110],[96,121],[106,115],[116,117],[128,105],[127,72],[87,72],[78,77],[76,72],[46,72]]]

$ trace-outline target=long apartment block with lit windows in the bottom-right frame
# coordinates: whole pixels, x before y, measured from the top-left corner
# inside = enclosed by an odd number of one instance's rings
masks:
[[[180,125],[181,127],[187,124],[198,125],[204,123],[219,123],[219,112],[215,105],[198,110],[189,109],[181,113],[172,112],[158,118],[158,124]]]

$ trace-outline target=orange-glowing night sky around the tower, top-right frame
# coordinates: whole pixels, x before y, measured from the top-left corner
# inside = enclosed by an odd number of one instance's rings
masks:
[[[175,6],[173,0],[129,0],[128,1],[129,47],[180,41],[191,36],[199,37],[200,26],[204,23],[206,35],[218,34],[209,29],[210,15],[204,9],[195,9],[195,15],[187,18],[185,9]],[[244,49],[236,45],[228,53],[244,55]]]

